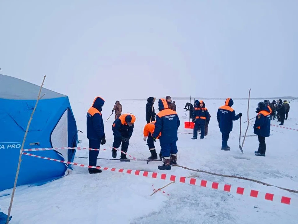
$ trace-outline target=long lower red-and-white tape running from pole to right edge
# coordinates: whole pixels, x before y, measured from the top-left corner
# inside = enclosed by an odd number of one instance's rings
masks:
[[[245,195],[248,197],[259,198],[259,199],[264,199],[264,200],[268,200],[268,201],[273,201],[275,203],[288,204],[288,205],[293,205],[293,206],[298,207],[297,200],[293,200],[292,198],[285,197],[285,196],[279,196],[279,195],[271,194],[271,193],[264,193],[264,192],[252,190],[252,189],[245,189],[242,187],[236,187],[236,186],[232,186],[230,184],[220,184],[217,182],[211,182],[211,181],[207,181],[207,180],[198,180],[198,179],[189,178],[189,177],[182,177],[182,176],[179,177],[176,175],[168,175],[168,174],[161,174],[161,173],[141,171],[141,170],[126,170],[126,169],[116,169],[116,168],[108,168],[108,167],[87,166],[84,164],[68,162],[68,161],[61,161],[61,160],[47,158],[47,157],[43,157],[43,156],[37,156],[37,155],[30,154],[27,152],[22,152],[22,154],[24,154],[26,156],[33,156],[33,157],[45,159],[45,160],[66,163],[66,164],[70,164],[70,165],[74,165],[74,166],[116,171],[119,173],[134,174],[137,176],[150,177],[150,178],[154,178],[154,179],[170,180],[170,181],[175,181],[177,183],[182,183],[182,184],[197,185],[197,186],[201,186],[201,187],[207,187],[207,188],[211,188],[211,189],[226,191],[226,192],[230,192],[230,193],[234,193],[234,194],[236,193],[236,194]]]

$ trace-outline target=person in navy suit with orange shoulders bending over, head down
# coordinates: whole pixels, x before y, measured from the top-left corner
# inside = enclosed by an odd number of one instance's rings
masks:
[[[129,146],[129,139],[133,134],[134,122],[136,121],[136,117],[132,114],[122,114],[119,118],[117,118],[113,123],[113,135],[114,142],[112,148],[112,156],[113,158],[117,157],[117,148],[120,147],[122,142],[121,151],[127,152]],[[116,148],[116,149],[115,149]],[[126,155],[121,152],[120,161],[130,162],[130,159],[126,158]]]

